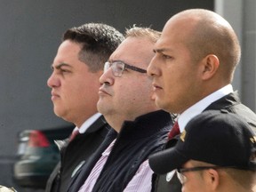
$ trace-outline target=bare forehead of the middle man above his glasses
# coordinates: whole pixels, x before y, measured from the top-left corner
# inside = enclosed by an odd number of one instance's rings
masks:
[[[123,60],[138,67],[148,67],[154,56],[154,43],[145,37],[127,37],[112,53],[109,60]]]

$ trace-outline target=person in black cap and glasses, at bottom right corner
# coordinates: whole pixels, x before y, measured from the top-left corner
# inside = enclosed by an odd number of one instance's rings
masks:
[[[159,174],[177,172],[183,192],[256,191],[256,134],[240,116],[205,111],[149,164]]]

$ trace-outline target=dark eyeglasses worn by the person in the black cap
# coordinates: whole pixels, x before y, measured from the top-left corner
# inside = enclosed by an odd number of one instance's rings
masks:
[[[181,185],[183,185],[188,179],[182,174],[183,172],[197,172],[207,169],[223,169],[223,168],[236,168],[234,166],[200,166],[200,167],[191,167],[191,168],[179,168],[176,170],[177,177],[180,180]]]

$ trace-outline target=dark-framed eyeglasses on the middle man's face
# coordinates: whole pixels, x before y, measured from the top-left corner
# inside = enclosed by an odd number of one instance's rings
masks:
[[[129,69],[131,69],[133,71],[137,71],[139,73],[147,73],[147,70],[145,70],[143,68],[137,68],[132,65],[128,65],[128,64],[124,63],[122,60],[115,60],[113,62],[109,62],[109,61],[105,62],[104,73],[108,70],[108,68],[112,69],[112,73],[114,76],[122,76],[125,68],[129,68]]]

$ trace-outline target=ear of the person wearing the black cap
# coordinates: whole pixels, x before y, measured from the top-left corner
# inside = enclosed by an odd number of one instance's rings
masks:
[[[212,191],[215,191],[220,185],[220,174],[214,169],[209,169],[204,172],[206,184]]]

